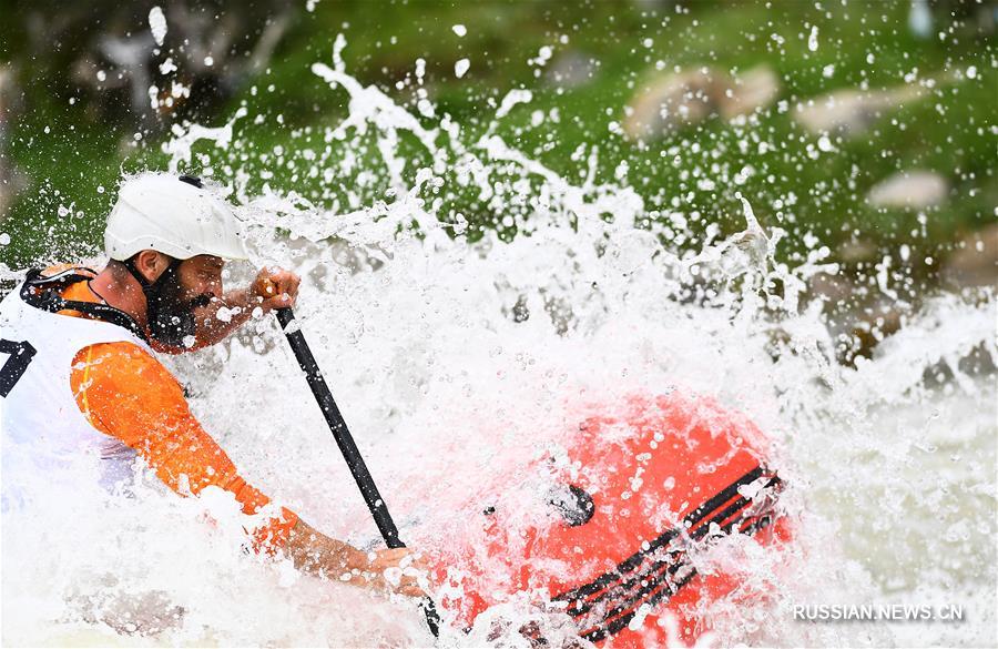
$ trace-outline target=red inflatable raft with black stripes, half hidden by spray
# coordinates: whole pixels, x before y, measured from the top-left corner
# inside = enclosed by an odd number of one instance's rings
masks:
[[[710,629],[705,605],[741,581],[704,574],[697,556],[733,534],[774,550],[790,540],[765,437],[710,400],[632,397],[587,419],[560,455],[511,476],[544,476],[537,511],[499,498],[440,557],[440,604],[459,623],[518,594],[567,612],[592,642],[675,642],[665,611],[692,642]]]

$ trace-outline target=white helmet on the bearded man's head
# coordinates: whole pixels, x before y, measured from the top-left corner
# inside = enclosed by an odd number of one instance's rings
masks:
[[[104,250],[120,262],[143,250],[177,260],[245,260],[245,232],[222,196],[198,179],[146,172],[122,183],[104,230]]]

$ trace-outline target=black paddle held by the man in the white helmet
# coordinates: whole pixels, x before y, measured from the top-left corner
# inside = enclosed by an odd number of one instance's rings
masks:
[[[347,429],[343,415],[339,414],[339,408],[336,407],[336,402],[333,400],[333,393],[329,392],[329,386],[326,385],[326,381],[323,378],[323,373],[315,362],[315,356],[312,355],[312,349],[308,348],[308,343],[305,342],[305,336],[301,329],[288,331],[288,325],[294,320],[295,314],[291,308],[277,310],[277,322],[281,323],[292,352],[295,353],[295,358],[297,358],[302,372],[305,373],[308,387],[312,388],[312,394],[315,395],[315,400],[323,410],[323,416],[326,417],[326,424],[329,425],[329,430],[333,433],[333,437],[336,438],[339,452],[343,453],[343,458],[346,460],[347,466],[350,468],[350,474],[353,474],[357,486],[360,488],[364,501],[367,503],[367,508],[370,510],[370,515],[374,516],[375,524],[377,524],[378,530],[385,539],[385,545],[389,548],[404,548],[406,544],[398,538],[398,528],[395,527],[395,521],[391,520],[391,515],[388,514],[388,507],[378,493],[378,487],[374,484],[374,478],[370,477],[370,471],[367,470],[367,465],[364,464],[364,458],[360,457],[357,445],[354,444],[354,438]],[[426,623],[429,626],[430,632],[434,636],[438,636],[440,616],[437,613],[434,601],[427,597],[422,600],[421,606],[422,611],[426,613]]]

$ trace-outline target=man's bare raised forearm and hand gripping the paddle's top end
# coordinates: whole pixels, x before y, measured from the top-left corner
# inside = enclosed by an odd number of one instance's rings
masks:
[[[213,300],[207,306],[197,310],[194,348],[222,342],[248,321],[257,306],[264,313],[294,306],[301,282],[301,277],[291,271],[261,268],[248,288],[230,291],[221,298]]]

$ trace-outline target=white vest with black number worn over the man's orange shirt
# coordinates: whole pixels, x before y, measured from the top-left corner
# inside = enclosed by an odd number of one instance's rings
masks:
[[[28,304],[21,286],[0,302],[4,509],[14,497],[12,479],[18,475],[44,474],[99,458],[95,466],[101,484],[111,486],[131,477],[136,452],[94,428],[80,412],[70,385],[73,358],[80,349],[118,342],[150,352],[124,327]]]

